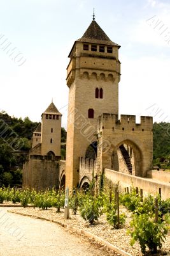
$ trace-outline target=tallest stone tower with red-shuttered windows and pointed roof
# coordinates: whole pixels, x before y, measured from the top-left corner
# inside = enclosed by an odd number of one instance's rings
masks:
[[[70,189],[78,186],[79,157],[96,141],[98,116],[118,114],[119,48],[93,19],[69,53],[66,186]]]

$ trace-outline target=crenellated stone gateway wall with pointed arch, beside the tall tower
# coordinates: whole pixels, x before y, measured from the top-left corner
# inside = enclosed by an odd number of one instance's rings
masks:
[[[147,171],[152,168],[153,155],[153,120],[150,116],[141,116],[141,123],[136,124],[136,116],[103,114],[99,117],[97,136],[99,139],[97,154],[97,173],[104,168],[111,169],[111,156],[117,154],[122,144],[132,149],[134,162],[133,174],[146,177]],[[123,168],[123,167],[122,167]],[[119,168],[119,171],[122,170]]]

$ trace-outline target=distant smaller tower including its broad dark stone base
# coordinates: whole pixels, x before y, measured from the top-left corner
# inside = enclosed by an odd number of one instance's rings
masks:
[[[53,102],[41,115],[32,136],[32,148],[23,165],[23,188],[59,188],[61,117]]]

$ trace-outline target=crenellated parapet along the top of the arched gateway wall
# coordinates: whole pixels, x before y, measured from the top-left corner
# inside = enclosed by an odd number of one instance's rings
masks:
[[[152,116],[141,116],[140,123],[136,123],[135,115],[118,115],[104,113],[99,116],[98,129],[120,129],[122,131],[152,131]]]

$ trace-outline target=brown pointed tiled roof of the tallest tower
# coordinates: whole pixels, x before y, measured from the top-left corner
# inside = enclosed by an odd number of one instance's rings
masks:
[[[77,40],[78,42],[96,43],[96,44],[106,44],[115,45],[120,47],[120,45],[115,44],[110,40],[110,38],[104,33],[103,29],[97,24],[96,20],[92,20],[89,28],[85,31],[84,35]]]

